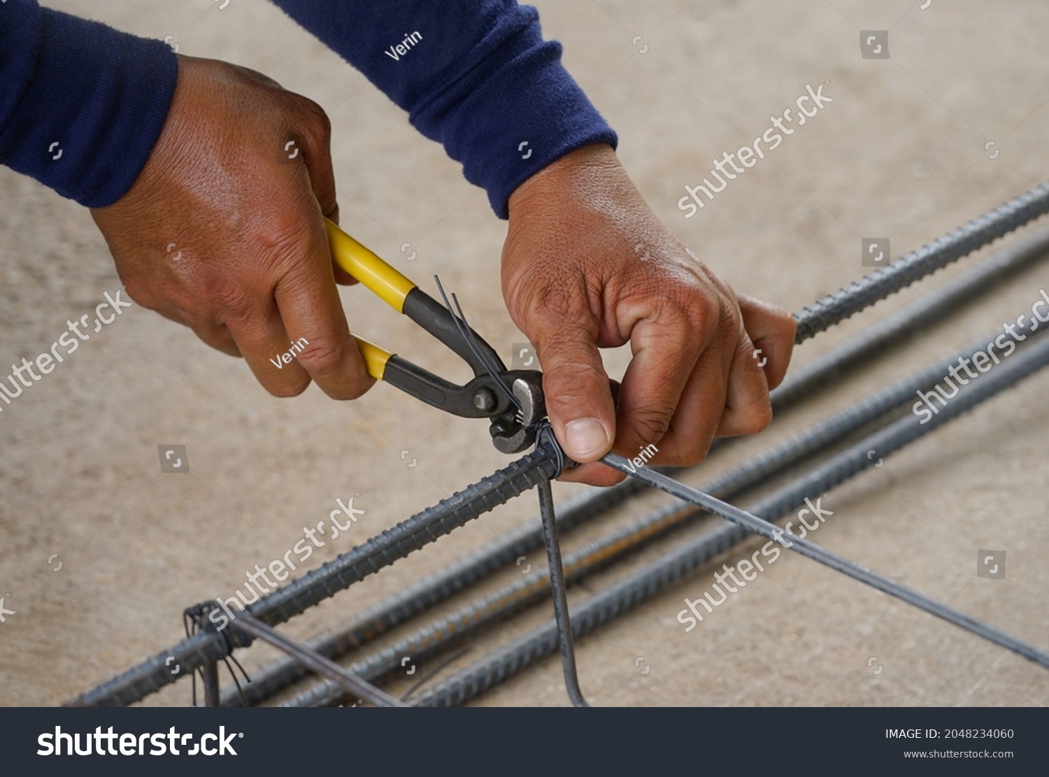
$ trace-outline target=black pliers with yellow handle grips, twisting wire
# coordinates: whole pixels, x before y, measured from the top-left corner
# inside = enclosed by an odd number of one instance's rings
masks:
[[[531,448],[547,415],[542,373],[508,370],[495,349],[466,323],[462,310],[456,316],[447,299],[442,305],[333,221],[324,221],[339,266],[451,348],[470,365],[474,377],[458,386],[355,334],[368,374],[453,415],[489,418],[492,444],[502,453]]]

